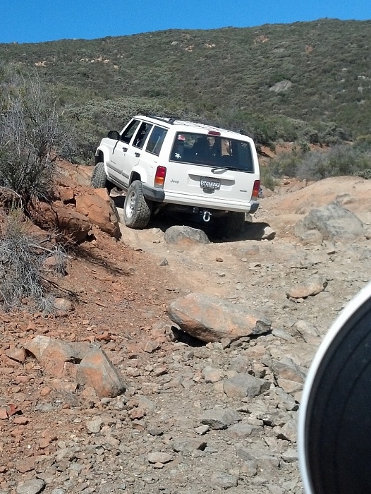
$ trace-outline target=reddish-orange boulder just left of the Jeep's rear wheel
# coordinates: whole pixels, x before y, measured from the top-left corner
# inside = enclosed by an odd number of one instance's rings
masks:
[[[115,239],[121,236],[118,213],[107,189],[98,188],[94,193],[85,193],[75,197],[76,211],[85,215],[90,222],[97,225]]]

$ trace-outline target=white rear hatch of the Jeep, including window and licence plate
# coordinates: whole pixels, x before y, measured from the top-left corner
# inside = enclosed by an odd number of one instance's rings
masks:
[[[174,163],[174,166],[172,164]],[[178,132],[166,171],[166,200],[185,204],[188,197],[204,207],[248,210],[259,180],[255,147],[248,140]]]

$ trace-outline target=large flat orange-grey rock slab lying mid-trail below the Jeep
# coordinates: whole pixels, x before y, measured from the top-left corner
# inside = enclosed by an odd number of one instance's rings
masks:
[[[202,342],[262,335],[271,328],[265,315],[217,297],[192,293],[171,302],[168,313],[181,330]]]

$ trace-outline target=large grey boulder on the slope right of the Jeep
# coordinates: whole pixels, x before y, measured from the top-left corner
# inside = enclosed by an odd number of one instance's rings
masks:
[[[308,231],[317,230],[324,240],[353,240],[365,236],[363,222],[353,212],[336,203],[311,210],[294,227],[294,234],[305,239]]]

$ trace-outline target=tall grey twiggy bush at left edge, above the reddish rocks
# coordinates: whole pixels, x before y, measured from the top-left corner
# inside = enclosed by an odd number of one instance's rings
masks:
[[[53,191],[54,159],[68,145],[56,98],[39,78],[8,69],[0,93],[0,185],[27,203]]]

